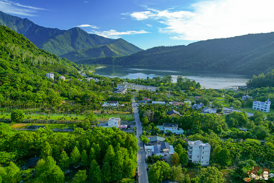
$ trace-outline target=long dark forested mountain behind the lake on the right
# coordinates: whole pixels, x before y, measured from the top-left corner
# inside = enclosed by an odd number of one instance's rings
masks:
[[[84,59],[78,63],[260,74],[274,69],[273,41],[274,32],[247,34],[198,41],[187,46],[160,46],[130,56]]]

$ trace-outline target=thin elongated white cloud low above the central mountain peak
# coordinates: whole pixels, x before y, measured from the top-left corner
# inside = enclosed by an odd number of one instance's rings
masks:
[[[134,34],[145,34],[145,33],[150,33],[145,30],[140,30],[140,31],[131,31],[127,30],[124,32],[118,32],[117,30],[109,30],[109,31],[95,31],[92,30],[92,32],[89,32],[90,34],[97,34],[99,36],[103,36],[105,38],[121,38],[121,35],[134,35]]]

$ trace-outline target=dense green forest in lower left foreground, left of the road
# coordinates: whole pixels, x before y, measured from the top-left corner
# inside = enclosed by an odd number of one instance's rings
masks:
[[[71,174],[64,175],[63,170],[79,165],[75,182],[87,178],[89,182],[116,182],[135,176],[137,138],[115,127],[94,127],[87,131],[77,128],[72,133],[40,128],[33,133],[12,130],[8,124],[0,123],[0,136],[0,163],[10,161],[9,166],[0,167],[3,182],[29,180],[35,172],[32,177],[35,183],[63,183],[73,178]],[[41,158],[35,170],[21,171],[12,162],[17,160],[23,166],[23,160],[34,156]]]

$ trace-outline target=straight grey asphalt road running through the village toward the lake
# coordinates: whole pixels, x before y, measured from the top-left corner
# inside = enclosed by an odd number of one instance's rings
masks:
[[[143,148],[143,142],[140,141],[139,135],[142,134],[142,126],[139,119],[139,115],[137,112],[137,105],[133,98],[132,100],[132,106],[133,106],[133,113],[136,121],[136,131],[137,131],[137,139],[138,139],[138,145],[139,145],[139,151],[137,152],[137,163],[138,163],[138,183],[148,183],[148,172],[147,172],[147,164],[145,162],[145,152]]]

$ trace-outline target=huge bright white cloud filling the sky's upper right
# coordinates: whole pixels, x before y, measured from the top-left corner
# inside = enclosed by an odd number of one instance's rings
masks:
[[[272,32],[273,7],[272,0],[203,0],[191,4],[191,12],[148,9],[130,16],[162,23],[159,32],[176,34],[172,39],[197,41]]]

